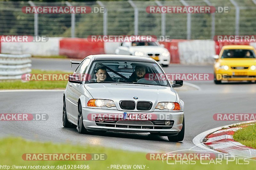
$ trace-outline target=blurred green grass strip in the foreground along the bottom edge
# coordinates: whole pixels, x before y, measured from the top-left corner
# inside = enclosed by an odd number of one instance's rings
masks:
[[[20,166],[57,166],[57,165],[89,165],[90,169],[110,169],[111,165],[146,165],[145,169],[184,169],[184,170],[198,170],[198,169],[253,169],[256,162],[250,160],[248,165],[236,165],[234,162],[226,161],[222,164],[202,165],[200,161],[196,161],[195,165],[176,165],[167,164],[162,160],[148,160],[146,159],[146,152],[130,152],[117,149],[104,148],[100,146],[88,146],[77,143],[76,145],[70,144],[67,141],[65,144],[52,144],[26,141],[22,138],[8,137],[0,139],[0,165],[20,165]],[[79,141],[78,141],[79,142]],[[100,141],[95,143],[100,145]],[[119,145],[116,143],[116,145]],[[170,148],[171,150],[171,148]],[[26,161],[22,159],[24,153],[105,153],[107,154],[106,160],[94,161]],[[206,163],[204,161],[204,163]],[[241,163],[241,161],[240,161]],[[109,167],[109,168],[108,168]],[[147,168],[148,167],[148,168]],[[113,168],[112,168],[113,169]],[[132,168],[133,169],[133,168]]]

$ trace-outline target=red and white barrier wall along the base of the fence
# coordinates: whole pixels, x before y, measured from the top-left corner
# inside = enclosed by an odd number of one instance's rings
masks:
[[[92,54],[115,54],[120,42],[92,42],[87,38],[49,37],[47,42],[1,42],[0,52],[6,54],[31,54],[34,56],[67,55],[84,58]],[[213,63],[213,55],[219,54],[224,45],[252,45],[256,42],[218,42],[213,40],[172,40],[160,42],[171,54],[171,63]]]

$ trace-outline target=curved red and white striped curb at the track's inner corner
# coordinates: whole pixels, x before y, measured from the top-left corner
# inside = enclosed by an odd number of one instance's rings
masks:
[[[242,123],[250,123],[242,122]],[[239,123],[239,124],[242,124]],[[228,126],[207,130],[193,139],[193,143],[200,148],[211,150],[212,152],[221,152],[234,156],[256,159],[256,149],[245,146],[233,139],[234,133],[242,127],[230,128]]]

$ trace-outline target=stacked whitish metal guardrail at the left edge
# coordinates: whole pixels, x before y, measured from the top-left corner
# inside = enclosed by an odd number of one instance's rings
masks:
[[[31,72],[31,55],[0,54],[0,80],[21,79]]]

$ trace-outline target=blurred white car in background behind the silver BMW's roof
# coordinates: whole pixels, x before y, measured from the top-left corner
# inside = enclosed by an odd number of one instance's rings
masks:
[[[123,42],[116,48],[115,54],[151,57],[163,67],[168,67],[171,60],[169,51],[158,42],[152,41]]]

